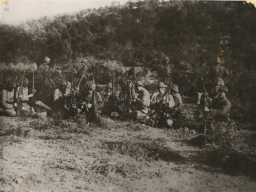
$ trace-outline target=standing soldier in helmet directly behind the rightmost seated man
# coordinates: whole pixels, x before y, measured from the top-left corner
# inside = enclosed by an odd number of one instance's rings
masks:
[[[208,73],[209,81],[211,83],[210,94],[213,94],[216,87],[225,85],[223,78],[227,78],[228,75],[227,69],[221,65],[220,57],[217,57],[214,65],[212,65]]]

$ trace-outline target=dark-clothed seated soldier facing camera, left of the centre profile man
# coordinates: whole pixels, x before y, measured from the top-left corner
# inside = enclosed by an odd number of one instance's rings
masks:
[[[89,81],[86,91],[81,94],[79,108],[81,113],[79,119],[86,119],[87,122],[97,122],[100,120],[100,113],[103,107],[102,97],[95,91],[96,85],[94,81]]]

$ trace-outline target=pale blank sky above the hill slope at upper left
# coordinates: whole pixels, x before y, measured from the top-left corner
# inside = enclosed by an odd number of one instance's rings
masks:
[[[22,21],[38,19],[45,15],[52,17],[62,13],[78,12],[82,9],[110,6],[111,2],[122,5],[127,0],[8,0],[6,4],[1,5],[0,21],[4,24],[15,25],[22,23]]]

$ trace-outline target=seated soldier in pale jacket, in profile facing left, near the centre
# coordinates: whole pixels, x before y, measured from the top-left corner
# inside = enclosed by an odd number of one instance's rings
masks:
[[[138,90],[138,96],[135,95],[135,111],[124,114],[127,119],[140,120],[147,116],[150,107],[150,93],[145,89],[145,85],[141,81],[137,81],[135,85]]]

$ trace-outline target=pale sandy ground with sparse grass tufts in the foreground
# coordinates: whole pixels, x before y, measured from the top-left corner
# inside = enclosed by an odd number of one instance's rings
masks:
[[[256,191],[255,179],[206,166],[202,149],[167,129],[136,130],[110,120],[112,127],[59,133],[35,130],[29,119],[0,120],[0,191]],[[20,133],[8,132],[19,126]],[[168,153],[153,159],[143,147],[137,155],[122,152],[140,138],[166,141]]]

